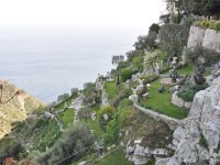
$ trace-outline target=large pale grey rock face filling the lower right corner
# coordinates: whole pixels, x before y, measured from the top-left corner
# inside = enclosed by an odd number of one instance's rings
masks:
[[[216,164],[220,157],[220,77],[196,94],[188,118],[173,134],[175,154],[156,165]]]

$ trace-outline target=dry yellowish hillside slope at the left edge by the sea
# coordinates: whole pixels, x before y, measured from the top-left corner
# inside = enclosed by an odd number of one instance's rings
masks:
[[[0,139],[11,131],[13,122],[23,121],[29,113],[43,108],[45,105],[29,94],[18,89],[6,80],[0,80],[2,89],[0,103]],[[16,92],[20,91],[20,92]],[[16,92],[16,95],[14,95]],[[12,97],[14,96],[14,97]],[[8,103],[6,103],[12,98]]]

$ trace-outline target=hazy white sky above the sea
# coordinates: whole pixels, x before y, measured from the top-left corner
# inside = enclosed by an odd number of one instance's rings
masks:
[[[0,0],[0,25],[82,24],[146,26],[163,0]]]

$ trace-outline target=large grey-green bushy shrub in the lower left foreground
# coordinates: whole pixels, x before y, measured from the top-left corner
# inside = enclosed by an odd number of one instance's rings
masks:
[[[40,155],[36,161],[41,165],[55,164],[58,161],[80,152],[94,143],[94,135],[86,124],[74,123],[63,134],[62,139],[46,153]],[[68,157],[62,164],[70,164],[73,160],[81,157],[81,153]]]

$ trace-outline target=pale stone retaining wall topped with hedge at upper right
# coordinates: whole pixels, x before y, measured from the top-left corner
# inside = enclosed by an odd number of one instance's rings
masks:
[[[193,25],[189,31],[187,47],[193,48],[198,45],[220,53],[220,32]]]

